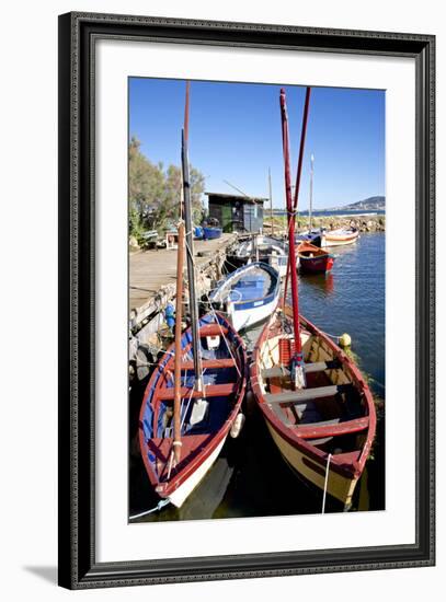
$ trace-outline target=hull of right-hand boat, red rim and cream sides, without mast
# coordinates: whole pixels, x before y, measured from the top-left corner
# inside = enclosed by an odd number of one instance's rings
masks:
[[[371,393],[352,359],[301,315],[306,386],[296,390],[289,313],[277,311],[259,338],[252,390],[284,460],[348,508],[375,437]]]

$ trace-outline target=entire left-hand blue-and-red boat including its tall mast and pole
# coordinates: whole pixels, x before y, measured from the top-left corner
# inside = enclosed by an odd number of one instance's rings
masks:
[[[198,317],[187,126],[188,83],[181,149],[175,340],[150,378],[139,415],[140,451],[150,483],[161,501],[179,508],[217,459],[229,431],[238,435],[247,386],[247,358],[240,336],[214,310]],[[182,333],[184,254],[191,326]]]

